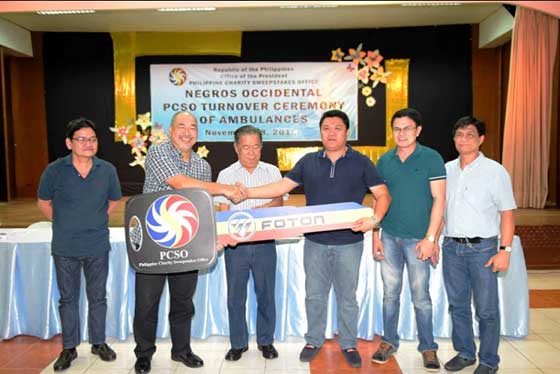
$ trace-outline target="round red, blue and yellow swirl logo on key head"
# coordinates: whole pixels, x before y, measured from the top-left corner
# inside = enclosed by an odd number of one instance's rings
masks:
[[[165,248],[179,248],[196,236],[198,211],[190,200],[179,195],[165,195],[150,205],[146,229],[154,242]]]

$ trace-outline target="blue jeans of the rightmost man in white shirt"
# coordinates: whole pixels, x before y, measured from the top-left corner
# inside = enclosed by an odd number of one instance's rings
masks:
[[[484,264],[496,254],[497,248],[495,237],[480,244],[462,244],[449,238],[443,241],[443,279],[453,322],[453,348],[461,357],[476,357],[471,309],[474,297],[480,333],[478,357],[480,363],[491,368],[498,367],[500,362],[498,273]]]

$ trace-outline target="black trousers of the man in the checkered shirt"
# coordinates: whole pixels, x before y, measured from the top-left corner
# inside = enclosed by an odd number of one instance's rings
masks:
[[[161,292],[169,283],[171,327],[171,354],[183,355],[191,352],[191,319],[194,315],[192,301],[198,271],[176,274],[136,273],[136,303],[134,307],[134,340],[136,357],[151,358],[156,351],[156,330]]]

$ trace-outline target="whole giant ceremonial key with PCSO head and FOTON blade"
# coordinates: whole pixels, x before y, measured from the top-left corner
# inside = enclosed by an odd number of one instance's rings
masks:
[[[356,203],[277,207],[214,213],[202,189],[136,195],[125,208],[128,259],[140,273],[206,269],[216,261],[216,237],[237,242],[282,239],[347,229],[371,208]]]

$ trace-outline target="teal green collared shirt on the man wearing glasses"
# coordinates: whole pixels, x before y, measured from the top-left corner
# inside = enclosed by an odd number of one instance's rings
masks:
[[[377,168],[391,194],[391,205],[381,227],[393,236],[423,238],[434,200],[430,182],[445,179],[440,154],[416,143],[414,152],[403,162],[397,148],[393,148],[381,156]]]

